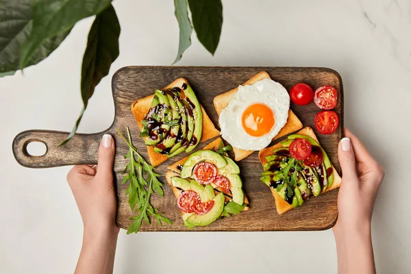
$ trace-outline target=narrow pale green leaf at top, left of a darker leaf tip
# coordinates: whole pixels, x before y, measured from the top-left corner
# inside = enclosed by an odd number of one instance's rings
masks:
[[[173,64],[182,59],[182,55],[191,45],[192,27],[188,18],[187,0],[174,0],[174,14],[179,27],[178,52]]]

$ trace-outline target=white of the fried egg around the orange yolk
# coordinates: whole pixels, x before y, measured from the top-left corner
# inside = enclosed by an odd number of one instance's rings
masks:
[[[271,108],[275,119],[271,131],[260,137],[247,134],[241,123],[242,113],[249,105],[255,103],[264,103]],[[278,82],[262,79],[252,85],[238,86],[238,91],[219,116],[221,136],[232,147],[258,151],[267,147],[280,129],[286,125],[289,109],[290,95]]]

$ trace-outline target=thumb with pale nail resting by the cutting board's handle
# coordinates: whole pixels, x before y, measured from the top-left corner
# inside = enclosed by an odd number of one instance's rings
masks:
[[[97,176],[107,179],[112,177],[115,152],[114,139],[110,134],[104,134],[99,147]]]

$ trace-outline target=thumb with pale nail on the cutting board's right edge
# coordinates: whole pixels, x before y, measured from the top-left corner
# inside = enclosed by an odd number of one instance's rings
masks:
[[[351,140],[343,138],[338,145],[338,161],[340,162],[343,177],[358,177],[356,171],[356,155]]]

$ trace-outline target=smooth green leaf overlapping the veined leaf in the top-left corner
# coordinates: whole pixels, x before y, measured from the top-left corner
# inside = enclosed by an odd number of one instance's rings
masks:
[[[15,0],[12,0],[15,1]],[[112,0],[36,0],[33,2],[33,29],[27,41],[21,46],[20,68],[29,60],[45,41],[65,34],[88,16],[99,14]]]

